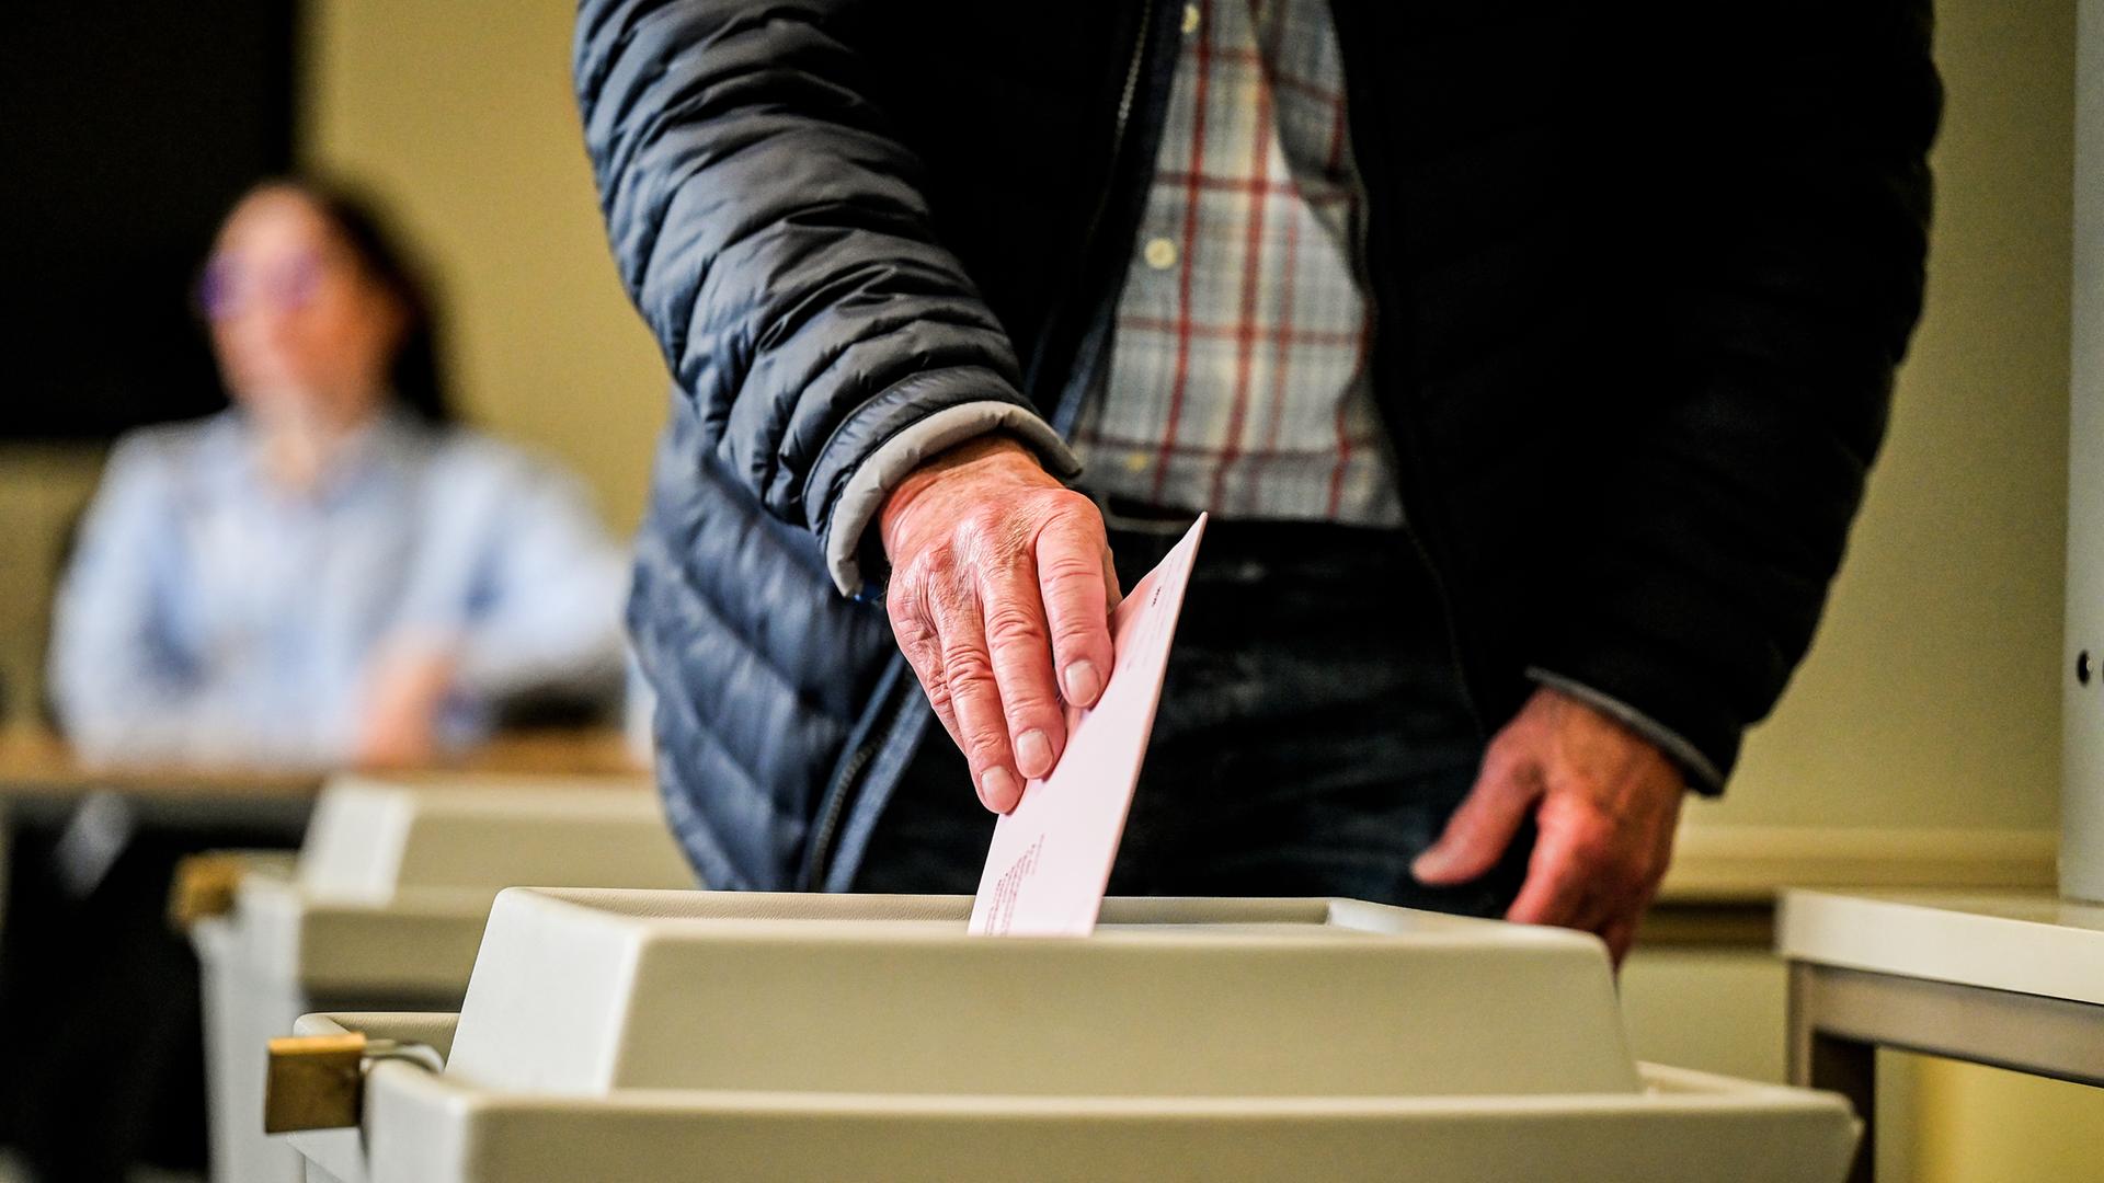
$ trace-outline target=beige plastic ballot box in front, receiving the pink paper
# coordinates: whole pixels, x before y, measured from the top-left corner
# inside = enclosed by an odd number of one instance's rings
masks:
[[[507,890],[459,1015],[309,1015],[339,1069],[274,1048],[269,1105],[320,1183],[1835,1183],[1856,1145],[1835,1095],[1633,1063],[1591,937],[1111,899],[1094,937],[989,939],[970,907]]]

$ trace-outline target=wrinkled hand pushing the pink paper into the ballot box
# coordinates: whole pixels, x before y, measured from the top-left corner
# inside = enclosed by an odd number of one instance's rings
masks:
[[[1067,745],[1060,701],[1111,676],[1117,570],[1102,514],[1018,442],[972,440],[913,469],[879,516],[886,608],[978,800],[1016,808]]]

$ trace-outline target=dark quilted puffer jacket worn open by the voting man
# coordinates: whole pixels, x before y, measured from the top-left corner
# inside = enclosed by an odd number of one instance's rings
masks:
[[[930,733],[835,587],[879,575],[856,474],[936,415],[1071,423],[1180,8],[583,2],[585,139],[675,379],[631,627],[711,884],[844,886]],[[1479,711],[1565,678],[1721,787],[1919,316],[1927,0],[1332,8],[1376,396]]]

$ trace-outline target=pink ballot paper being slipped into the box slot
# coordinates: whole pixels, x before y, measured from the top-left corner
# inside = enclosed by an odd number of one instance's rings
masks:
[[[1014,813],[993,825],[993,848],[972,901],[974,937],[1094,933],[1203,533],[1201,514],[1111,613],[1111,680],[1094,709],[1067,707],[1067,751],[1058,766],[1023,785]]]

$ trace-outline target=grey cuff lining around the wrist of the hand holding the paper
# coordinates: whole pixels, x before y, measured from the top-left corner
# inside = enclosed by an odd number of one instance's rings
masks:
[[[936,453],[995,432],[1006,432],[1037,453],[1046,472],[1056,478],[1071,480],[1081,472],[1081,461],[1058,438],[1058,432],[1027,406],[987,398],[936,410],[869,453],[869,459],[848,478],[848,486],[839,490],[825,535],[825,568],[833,575],[842,596],[854,596],[863,589],[863,535],[877,520],[877,509],[884,507],[890,490],[898,488],[909,472]]]

